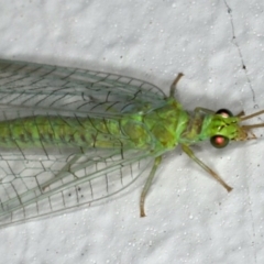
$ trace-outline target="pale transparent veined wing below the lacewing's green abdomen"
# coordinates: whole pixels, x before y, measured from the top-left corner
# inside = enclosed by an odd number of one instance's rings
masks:
[[[153,158],[136,151],[90,150],[86,155],[2,155],[0,227],[89,206],[150,173]],[[6,166],[3,166],[6,165]]]

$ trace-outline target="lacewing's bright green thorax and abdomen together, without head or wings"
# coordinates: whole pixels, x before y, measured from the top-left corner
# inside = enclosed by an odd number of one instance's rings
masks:
[[[122,120],[76,117],[29,117],[0,122],[0,146],[78,146],[151,150],[174,148],[186,130],[188,114],[176,100],[148,113]]]

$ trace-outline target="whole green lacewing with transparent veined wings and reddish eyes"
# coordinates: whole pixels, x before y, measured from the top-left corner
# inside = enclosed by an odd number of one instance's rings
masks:
[[[255,139],[264,113],[232,116],[183,109],[146,81],[118,75],[0,61],[0,224],[58,213],[112,196],[146,175],[140,215],[164,153],[183,151],[228,191],[232,188],[195,156],[191,144]]]

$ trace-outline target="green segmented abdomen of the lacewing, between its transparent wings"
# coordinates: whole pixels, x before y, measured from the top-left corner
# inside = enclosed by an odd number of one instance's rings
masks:
[[[92,121],[95,125],[92,125]],[[109,144],[103,125],[84,118],[29,117],[0,122],[0,145],[4,147],[95,146]],[[116,142],[113,139],[111,145]]]

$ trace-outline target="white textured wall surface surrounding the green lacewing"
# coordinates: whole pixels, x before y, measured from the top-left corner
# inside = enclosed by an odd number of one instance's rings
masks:
[[[165,91],[183,72],[185,108],[253,112],[264,108],[263,25],[262,0],[0,0],[0,57],[119,73]],[[195,151],[231,194],[176,150],[146,218],[139,186],[100,207],[0,230],[0,262],[264,263],[264,141]]]

